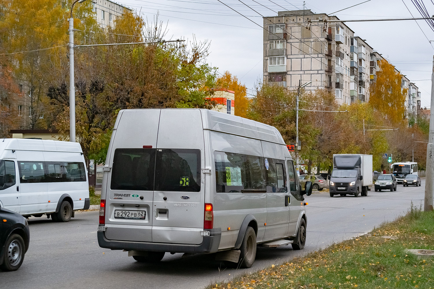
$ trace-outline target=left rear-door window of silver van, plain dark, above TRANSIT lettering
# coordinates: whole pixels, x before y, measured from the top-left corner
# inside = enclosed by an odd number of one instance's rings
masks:
[[[153,191],[155,149],[115,149],[112,190]]]

